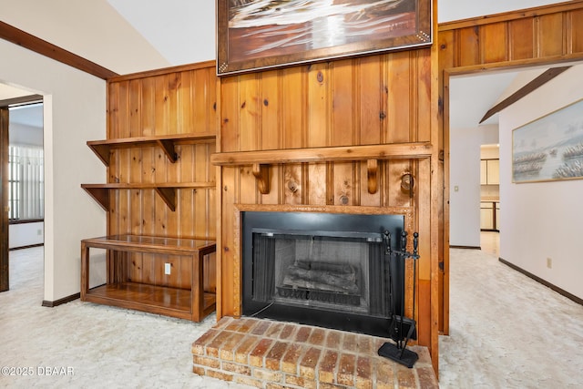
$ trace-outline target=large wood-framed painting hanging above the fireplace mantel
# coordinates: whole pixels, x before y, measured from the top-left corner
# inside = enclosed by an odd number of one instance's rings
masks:
[[[433,43],[431,0],[218,0],[217,75]]]

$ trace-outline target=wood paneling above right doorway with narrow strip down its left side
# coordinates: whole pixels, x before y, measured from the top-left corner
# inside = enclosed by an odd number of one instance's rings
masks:
[[[449,77],[506,68],[556,65],[583,60],[583,1],[476,17],[439,25],[439,100],[449,112]],[[479,93],[479,92],[478,92]],[[449,245],[449,118],[442,115],[445,139],[445,245]],[[440,272],[439,327],[449,333],[449,255]]]

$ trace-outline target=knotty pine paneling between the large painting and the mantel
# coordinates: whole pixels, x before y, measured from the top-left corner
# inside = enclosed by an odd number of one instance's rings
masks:
[[[429,60],[420,49],[221,78],[220,151],[429,141]]]

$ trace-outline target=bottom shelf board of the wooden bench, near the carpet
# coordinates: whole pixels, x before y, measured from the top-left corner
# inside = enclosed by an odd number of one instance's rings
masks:
[[[142,312],[192,319],[191,291],[136,282],[109,283],[90,289],[86,302],[113,305]],[[216,296],[204,293],[203,315],[215,310]]]

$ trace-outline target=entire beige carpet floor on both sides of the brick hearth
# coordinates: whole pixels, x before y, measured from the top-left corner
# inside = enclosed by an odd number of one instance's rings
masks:
[[[197,324],[78,300],[42,307],[42,255],[42,248],[10,254],[11,291],[0,293],[0,366],[32,375],[2,374],[0,387],[245,387],[191,373],[190,344],[214,315]],[[451,261],[441,387],[583,387],[582,306],[492,254],[453,250]]]

